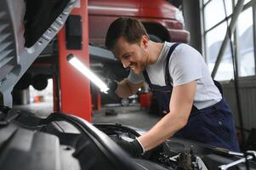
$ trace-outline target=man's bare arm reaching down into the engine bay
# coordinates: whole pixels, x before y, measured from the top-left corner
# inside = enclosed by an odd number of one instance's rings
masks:
[[[145,150],[151,150],[158,144],[184,127],[189,119],[193,99],[196,93],[196,81],[174,87],[170,100],[170,112],[157,122],[145,135],[139,137],[139,142]]]

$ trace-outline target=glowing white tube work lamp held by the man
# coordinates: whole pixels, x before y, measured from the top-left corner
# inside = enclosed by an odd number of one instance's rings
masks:
[[[91,82],[94,82],[94,84],[100,88],[101,92],[104,92],[107,94],[107,91],[110,89],[106,86],[105,82],[102,82],[99,77],[97,77],[93,71],[90,71],[85,65],[82,64],[82,62],[77,59],[77,57],[74,54],[68,54],[66,56],[66,59],[68,62],[73,65],[78,71],[80,71],[85,77],[88,77],[88,79]]]

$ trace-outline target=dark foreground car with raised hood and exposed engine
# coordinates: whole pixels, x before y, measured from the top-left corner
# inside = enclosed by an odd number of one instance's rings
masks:
[[[28,111],[11,109],[7,105],[11,105],[10,94],[15,83],[60,31],[76,0],[54,3],[0,0],[0,3],[1,170],[245,169],[243,164],[236,164],[255,159],[255,151],[244,155],[175,138],[134,158],[116,142],[121,138],[135,139],[145,133],[139,129],[120,124],[92,125],[61,112],[39,117]],[[46,9],[48,17],[44,22],[35,20],[46,16]],[[256,169],[255,161],[247,161],[247,167]]]

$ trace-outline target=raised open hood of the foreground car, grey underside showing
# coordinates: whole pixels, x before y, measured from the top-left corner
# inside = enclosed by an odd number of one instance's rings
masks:
[[[0,0],[0,101],[64,26],[76,0]]]

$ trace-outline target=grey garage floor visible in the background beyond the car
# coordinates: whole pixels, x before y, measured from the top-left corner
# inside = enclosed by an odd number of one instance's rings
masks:
[[[15,109],[30,111],[37,116],[46,117],[53,112],[52,103],[37,103],[30,105],[14,105]],[[105,112],[116,112],[116,116],[106,116]],[[95,123],[120,123],[131,127],[148,130],[160,119],[159,116],[149,115],[148,110],[140,108],[139,104],[129,106],[105,105],[99,111],[93,111],[92,120]]]

